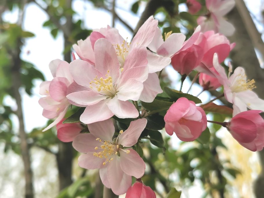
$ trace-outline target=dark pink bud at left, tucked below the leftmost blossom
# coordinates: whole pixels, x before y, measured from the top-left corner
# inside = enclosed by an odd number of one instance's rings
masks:
[[[56,125],[57,137],[62,142],[72,142],[76,135],[79,135],[82,131],[80,123],[65,123],[62,122],[65,119],[60,120]]]

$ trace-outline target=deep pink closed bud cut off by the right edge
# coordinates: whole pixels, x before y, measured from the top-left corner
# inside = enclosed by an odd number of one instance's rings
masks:
[[[250,151],[261,151],[264,147],[263,111],[249,110],[236,114],[227,124],[233,138]]]

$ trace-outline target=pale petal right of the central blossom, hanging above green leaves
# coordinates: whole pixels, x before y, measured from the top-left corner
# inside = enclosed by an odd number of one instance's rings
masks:
[[[147,80],[143,82],[143,90],[139,99],[143,102],[153,102],[158,93],[162,93],[160,80],[156,73],[149,74]]]

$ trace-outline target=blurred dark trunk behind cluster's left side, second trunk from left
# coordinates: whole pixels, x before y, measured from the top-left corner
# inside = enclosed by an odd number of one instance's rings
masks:
[[[71,9],[71,0],[65,0],[65,8]],[[69,34],[72,30],[72,15],[68,14],[66,17],[66,23],[64,24],[64,50],[68,49],[71,43],[69,42]],[[68,63],[71,62],[71,50],[67,50],[64,54],[64,60]],[[66,188],[72,183],[71,174],[72,174],[72,160],[73,160],[73,148],[70,143],[59,142],[58,143],[58,154],[56,155],[58,171],[59,171],[59,181],[60,181],[60,190]]]

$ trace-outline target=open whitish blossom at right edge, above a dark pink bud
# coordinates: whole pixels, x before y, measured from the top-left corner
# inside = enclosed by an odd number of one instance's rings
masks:
[[[232,68],[229,65],[229,74],[225,74],[225,69],[218,63],[217,54],[214,54],[214,68],[218,72],[216,77],[224,87],[224,95],[228,102],[233,104],[233,116],[248,109],[264,111],[264,100],[258,98],[252,91],[255,88],[255,81],[247,80],[245,70],[237,67],[230,75]]]

